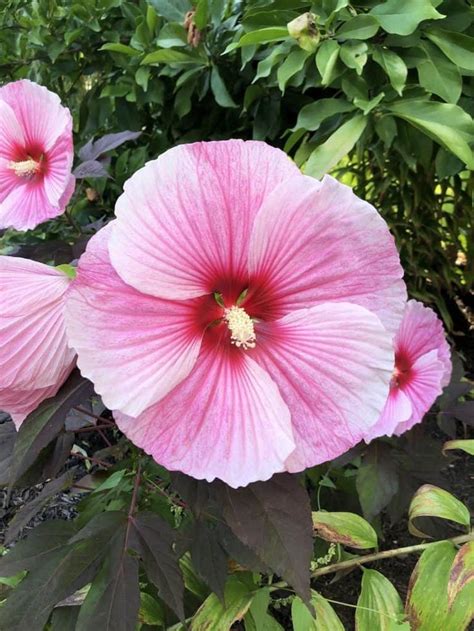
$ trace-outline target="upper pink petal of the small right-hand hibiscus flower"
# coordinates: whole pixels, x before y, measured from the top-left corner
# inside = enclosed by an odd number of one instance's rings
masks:
[[[438,359],[444,366],[441,385],[448,385],[451,377],[451,352],[443,324],[432,309],[416,300],[409,300],[395,338],[395,346],[411,362],[429,351],[437,350]]]

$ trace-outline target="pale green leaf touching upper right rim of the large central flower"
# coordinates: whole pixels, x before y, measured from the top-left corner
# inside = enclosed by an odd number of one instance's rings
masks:
[[[304,173],[321,178],[354,148],[366,126],[367,118],[362,114],[346,121],[322,145],[316,147],[306,162]]]

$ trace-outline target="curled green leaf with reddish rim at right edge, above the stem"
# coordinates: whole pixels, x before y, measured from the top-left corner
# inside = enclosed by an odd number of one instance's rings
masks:
[[[440,517],[469,528],[469,510],[454,495],[431,484],[424,484],[415,493],[408,511],[408,530],[417,537],[427,537],[413,521],[419,517]]]

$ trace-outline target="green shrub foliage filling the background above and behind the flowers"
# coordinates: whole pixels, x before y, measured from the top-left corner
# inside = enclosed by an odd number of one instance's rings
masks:
[[[3,0],[2,8],[2,81],[27,77],[58,92],[77,149],[93,136],[142,131],[100,158],[110,177],[82,180],[62,223],[8,232],[3,253],[21,244],[33,258],[67,258],[61,244],[77,238],[78,225],[87,233],[111,215],[147,160],[178,143],[254,138],[373,203],[396,237],[411,295],[459,328],[459,297],[469,305],[474,279],[470,2]]]

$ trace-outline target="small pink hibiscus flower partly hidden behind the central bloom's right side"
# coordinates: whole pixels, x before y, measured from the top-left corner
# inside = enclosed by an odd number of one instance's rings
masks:
[[[443,325],[421,302],[407,302],[394,346],[390,393],[380,419],[366,434],[367,441],[400,436],[422,421],[451,377],[451,353]]]

